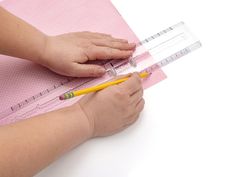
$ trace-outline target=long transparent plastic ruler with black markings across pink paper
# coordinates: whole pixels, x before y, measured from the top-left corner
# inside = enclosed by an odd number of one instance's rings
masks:
[[[137,43],[136,51],[128,60],[101,61],[99,64],[107,70],[107,75],[102,79],[68,78],[32,95],[30,98],[26,98],[20,103],[12,105],[7,110],[0,112],[0,125],[1,121],[6,119],[9,119],[9,122],[14,122],[16,119],[52,110],[65,103],[60,101],[58,96],[72,90],[104,82],[117,74],[144,70],[150,73],[154,72],[156,69],[166,66],[200,46],[200,41],[183,22],[180,22]]]

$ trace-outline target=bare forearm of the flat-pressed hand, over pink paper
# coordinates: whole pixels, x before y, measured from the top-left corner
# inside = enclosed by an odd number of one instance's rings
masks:
[[[0,7],[0,54],[39,63],[46,35]]]

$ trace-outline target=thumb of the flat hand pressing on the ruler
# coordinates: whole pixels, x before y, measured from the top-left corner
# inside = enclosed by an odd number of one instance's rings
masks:
[[[106,73],[105,68],[98,65],[75,63],[73,67],[73,77],[100,77]]]

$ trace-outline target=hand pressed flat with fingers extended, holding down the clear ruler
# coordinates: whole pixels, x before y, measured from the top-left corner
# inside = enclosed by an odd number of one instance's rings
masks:
[[[45,41],[45,49],[38,63],[58,74],[73,77],[101,76],[105,73],[103,67],[83,63],[129,58],[135,48],[135,44],[126,40],[91,32],[46,37]]]

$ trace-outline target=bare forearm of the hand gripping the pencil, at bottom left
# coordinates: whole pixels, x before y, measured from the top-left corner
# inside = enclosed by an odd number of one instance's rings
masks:
[[[0,127],[0,176],[33,176],[90,136],[78,106]]]

